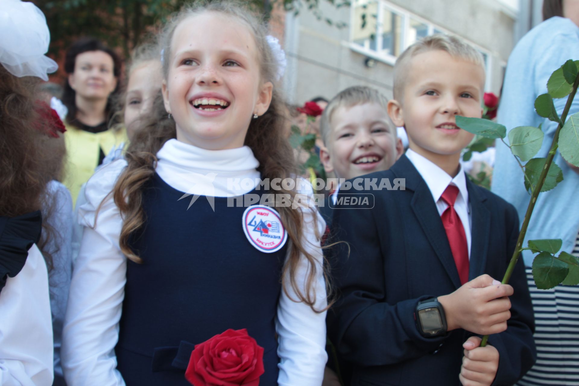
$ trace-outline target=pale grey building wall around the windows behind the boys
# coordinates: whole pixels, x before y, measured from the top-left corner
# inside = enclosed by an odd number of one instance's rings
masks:
[[[489,57],[486,91],[499,93],[503,68],[514,46],[518,0],[382,1],[474,43]],[[331,98],[354,84],[374,86],[391,98],[394,60],[376,60],[375,67],[367,67],[368,53],[351,47],[351,25],[356,23],[351,8],[335,8],[322,1],[320,12],[321,20],[308,10],[285,19],[288,68],[283,86],[288,100],[301,104],[318,95]],[[367,20],[371,17],[367,15]],[[329,25],[326,18],[347,26]]]

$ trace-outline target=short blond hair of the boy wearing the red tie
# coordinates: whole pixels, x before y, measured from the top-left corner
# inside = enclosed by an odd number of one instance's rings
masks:
[[[447,52],[453,58],[469,61],[485,70],[485,61],[482,54],[467,42],[456,36],[436,34],[426,36],[413,45],[409,46],[396,60],[394,65],[394,99],[401,101],[404,94],[404,83],[408,77],[410,61],[413,57],[424,52],[441,50]]]

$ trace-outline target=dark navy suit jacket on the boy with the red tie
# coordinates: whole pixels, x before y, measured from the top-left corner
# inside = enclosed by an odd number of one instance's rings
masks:
[[[338,300],[328,312],[328,334],[339,355],[354,367],[352,385],[460,385],[462,344],[472,334],[456,329],[426,338],[414,311],[420,300],[447,295],[459,274],[432,194],[402,156],[388,171],[365,178],[405,179],[405,190],[340,190],[371,193],[372,209],[334,210],[332,231],[339,244],[329,256]],[[515,249],[515,208],[467,179],[472,216],[469,280],[489,274],[501,280]],[[519,260],[510,284],[511,319],[505,332],[490,336],[500,354],[493,385],[512,385],[536,359],[533,308]]]

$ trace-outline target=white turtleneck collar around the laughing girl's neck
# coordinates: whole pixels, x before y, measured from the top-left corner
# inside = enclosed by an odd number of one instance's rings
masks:
[[[163,181],[181,192],[201,196],[240,196],[254,189],[260,177],[256,170],[259,161],[248,146],[207,150],[170,139],[157,159],[156,172]]]

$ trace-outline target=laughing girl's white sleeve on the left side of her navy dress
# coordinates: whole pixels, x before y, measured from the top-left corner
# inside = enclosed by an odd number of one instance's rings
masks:
[[[125,166],[126,161],[118,160],[98,170],[87,182],[87,203],[79,208],[85,230],[72,271],[61,348],[68,386],[124,385],[116,370],[115,345],[126,258],[119,249],[122,219],[109,193]]]

